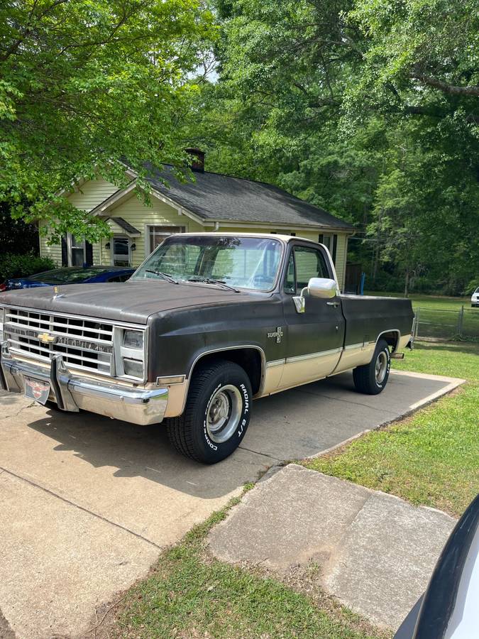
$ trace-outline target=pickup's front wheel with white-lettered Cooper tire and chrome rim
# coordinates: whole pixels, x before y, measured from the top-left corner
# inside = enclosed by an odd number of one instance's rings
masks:
[[[216,464],[238,448],[250,421],[251,384],[231,361],[204,364],[194,371],[185,411],[167,420],[170,442],[178,452]]]

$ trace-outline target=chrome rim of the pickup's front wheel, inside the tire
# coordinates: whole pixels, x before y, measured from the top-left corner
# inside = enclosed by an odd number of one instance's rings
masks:
[[[239,424],[243,398],[236,386],[227,384],[214,393],[207,408],[208,437],[215,444],[226,442]]]

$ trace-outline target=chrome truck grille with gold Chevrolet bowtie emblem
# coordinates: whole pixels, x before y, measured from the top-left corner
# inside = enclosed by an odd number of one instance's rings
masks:
[[[112,374],[113,325],[64,315],[5,309],[4,334],[12,353],[40,361],[62,355],[69,368]]]

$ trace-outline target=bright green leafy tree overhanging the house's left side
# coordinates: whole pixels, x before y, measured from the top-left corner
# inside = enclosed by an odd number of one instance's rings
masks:
[[[98,239],[104,224],[62,189],[94,175],[123,185],[123,156],[140,182],[143,160],[185,160],[189,74],[212,33],[200,0],[0,4],[0,202],[56,236]]]

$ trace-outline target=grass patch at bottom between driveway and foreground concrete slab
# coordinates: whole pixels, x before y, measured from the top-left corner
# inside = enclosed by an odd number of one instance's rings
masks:
[[[238,501],[238,500],[236,500]],[[128,591],[114,628],[118,638],[385,638],[330,599],[216,561],[205,537],[228,508],[163,553],[150,576]],[[321,595],[319,595],[321,596]]]

